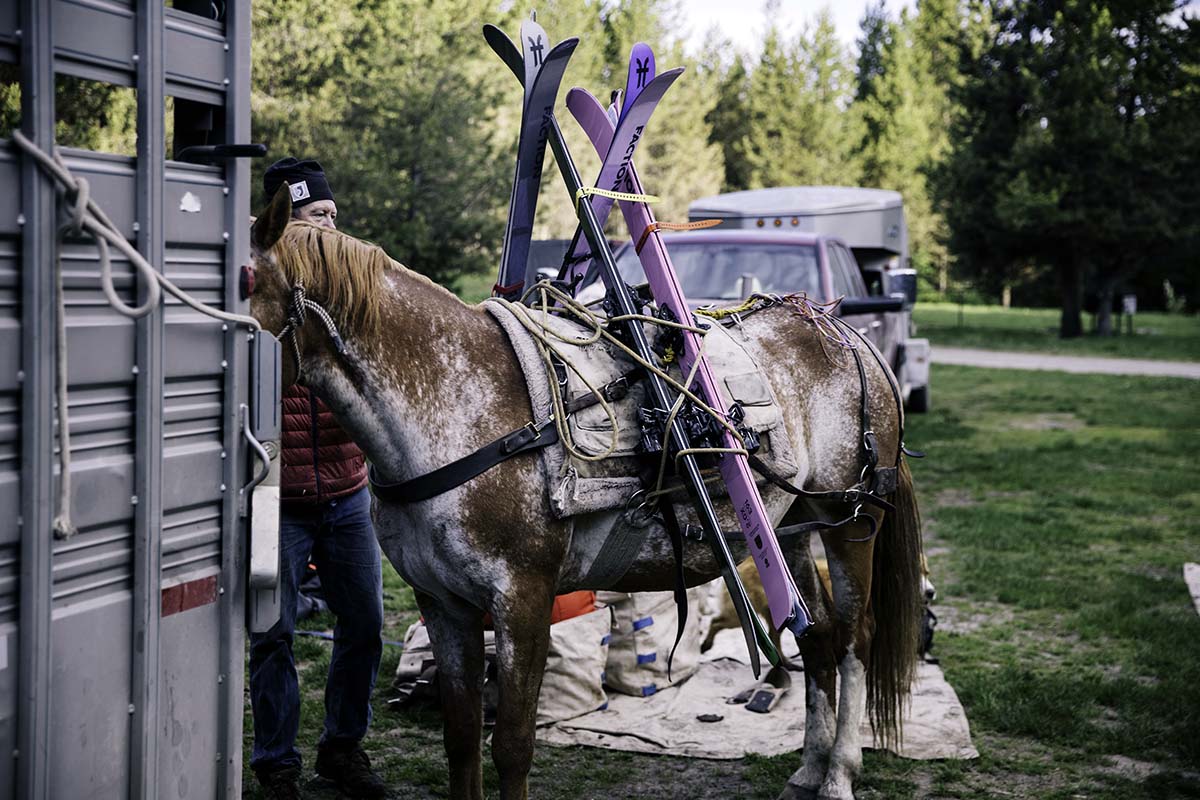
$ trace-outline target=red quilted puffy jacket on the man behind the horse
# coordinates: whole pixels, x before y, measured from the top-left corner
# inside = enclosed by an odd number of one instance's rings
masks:
[[[358,492],[367,463],[334,413],[304,386],[283,392],[283,468],[280,485],[289,503],[320,503]]]

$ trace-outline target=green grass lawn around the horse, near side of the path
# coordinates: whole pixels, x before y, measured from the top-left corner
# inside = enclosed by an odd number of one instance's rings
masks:
[[[934,652],[980,758],[866,753],[859,798],[1200,798],[1200,618],[1181,576],[1200,560],[1200,383],[946,366],[934,381],[935,410],[910,417],[907,440],[929,453],[913,471],[940,591]],[[385,638],[400,638],[412,595],[390,569],[385,591]],[[310,766],[329,646],[298,643]],[[385,649],[366,746],[392,796],[446,796],[437,716],[385,708],[397,657]],[[530,796],[769,799],[799,758],[542,746]],[[490,754],[485,769],[496,796]]]

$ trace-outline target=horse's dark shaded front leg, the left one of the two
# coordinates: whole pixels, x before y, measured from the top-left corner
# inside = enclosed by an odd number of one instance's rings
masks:
[[[443,745],[450,796],[484,799],[484,613],[462,602],[416,593],[433,644],[442,694]]]

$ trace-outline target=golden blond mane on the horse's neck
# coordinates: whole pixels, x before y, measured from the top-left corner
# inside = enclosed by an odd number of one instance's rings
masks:
[[[382,247],[293,219],[274,252],[288,283],[304,285],[305,294],[325,306],[340,326],[364,332],[378,329],[383,273],[398,266]]]

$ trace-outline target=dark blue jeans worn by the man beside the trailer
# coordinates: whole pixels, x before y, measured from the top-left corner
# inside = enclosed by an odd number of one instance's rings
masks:
[[[283,505],[280,519],[281,609],[266,633],[250,636],[250,702],[256,772],[300,766],[300,685],[292,652],[300,578],[310,557],[337,618],[325,682],[322,745],[353,745],[371,724],[371,691],[383,652],[383,575],[371,527],[371,495],[360,492],[313,506]]]

